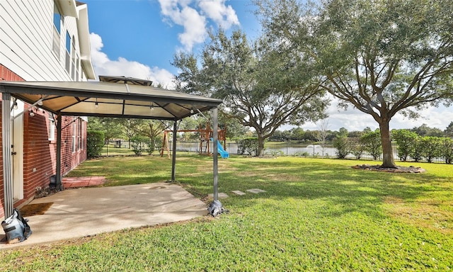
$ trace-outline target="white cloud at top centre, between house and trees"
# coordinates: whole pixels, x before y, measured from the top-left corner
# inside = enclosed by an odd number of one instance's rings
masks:
[[[159,0],[159,4],[164,21],[183,27],[178,38],[187,51],[207,38],[210,21],[225,29],[239,25],[236,11],[225,0]]]

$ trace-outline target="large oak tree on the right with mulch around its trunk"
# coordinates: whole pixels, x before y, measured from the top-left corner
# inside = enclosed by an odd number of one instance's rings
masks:
[[[383,167],[396,167],[389,123],[447,106],[453,92],[453,1],[256,0],[270,36],[310,55],[323,89],[379,123]]]

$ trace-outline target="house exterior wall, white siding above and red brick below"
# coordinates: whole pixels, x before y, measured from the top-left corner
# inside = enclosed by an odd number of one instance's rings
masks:
[[[70,1],[64,1],[67,4]],[[58,1],[60,3],[60,1]],[[75,3],[75,2],[74,2]],[[75,38],[76,52],[80,57],[79,33],[75,17],[62,15],[59,33],[59,56],[52,50],[54,1],[0,1],[0,81],[73,81],[65,69],[67,32]],[[70,55],[71,57],[71,55]],[[80,64],[79,64],[80,65]],[[86,81],[81,65],[79,77]],[[30,105],[25,103],[24,108]],[[0,104],[1,108],[1,104]],[[33,200],[40,188],[46,188],[50,176],[55,174],[57,157],[57,135],[50,137],[52,113],[38,107],[23,115],[23,198],[15,200],[18,207]],[[1,113],[1,111],[0,111]],[[55,116],[55,120],[57,117]],[[77,142],[76,150],[72,141]],[[1,124],[1,118],[0,118]],[[83,135],[77,133],[83,132]],[[51,139],[51,140],[50,140]],[[1,140],[1,134],[0,134]],[[3,148],[3,147],[1,147]],[[86,159],[86,121],[84,118],[62,117],[62,169],[64,176]],[[4,218],[4,169],[3,153],[0,151],[0,220]]]

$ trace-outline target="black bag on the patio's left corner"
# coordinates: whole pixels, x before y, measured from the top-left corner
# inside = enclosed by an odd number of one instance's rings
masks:
[[[22,217],[18,209],[13,210],[13,214],[1,222],[1,227],[6,234],[6,241],[10,242],[13,239],[18,239],[18,242],[23,242],[30,237],[32,231],[28,225],[28,220]]]

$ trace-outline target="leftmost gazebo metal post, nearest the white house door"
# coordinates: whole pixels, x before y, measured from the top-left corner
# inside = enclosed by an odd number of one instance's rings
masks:
[[[11,94],[1,95],[1,139],[3,142],[3,186],[5,218],[13,214],[13,179],[11,169]]]

